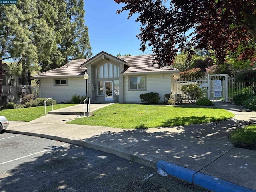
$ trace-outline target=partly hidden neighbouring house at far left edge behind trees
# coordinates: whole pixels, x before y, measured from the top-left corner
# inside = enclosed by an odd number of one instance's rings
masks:
[[[19,78],[16,75],[11,76],[8,70],[8,65],[6,63],[2,63],[2,102],[19,100],[17,88]]]

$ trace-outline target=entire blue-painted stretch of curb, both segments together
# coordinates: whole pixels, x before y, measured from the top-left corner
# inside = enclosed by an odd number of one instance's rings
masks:
[[[184,168],[163,160],[156,163],[157,169],[161,168],[167,174],[180,178],[194,185],[201,186],[214,192],[255,192],[254,190],[236,185],[219,178],[206,175],[194,170]]]

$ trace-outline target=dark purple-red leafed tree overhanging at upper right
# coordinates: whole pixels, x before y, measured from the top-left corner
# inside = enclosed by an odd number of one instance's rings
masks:
[[[154,62],[173,64],[178,50],[215,51],[224,62],[228,51],[240,60],[256,61],[255,0],[115,0],[126,4],[117,13],[129,10],[128,18],[139,13],[141,51],[152,46]],[[188,30],[194,31],[188,35]],[[192,37],[191,41],[188,41]],[[190,52],[189,52],[190,53]]]

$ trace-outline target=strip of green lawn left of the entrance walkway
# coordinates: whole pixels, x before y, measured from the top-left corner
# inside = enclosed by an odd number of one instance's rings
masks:
[[[58,104],[53,106],[53,110],[70,107],[76,104]],[[46,113],[52,110],[52,106],[46,106]],[[5,116],[8,121],[32,121],[44,116],[44,106],[28,107],[19,109],[4,109],[0,110],[0,115]]]

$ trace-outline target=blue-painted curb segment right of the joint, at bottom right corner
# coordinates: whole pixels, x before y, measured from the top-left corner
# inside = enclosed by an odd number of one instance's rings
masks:
[[[193,184],[214,192],[255,192],[254,190],[199,172],[194,175]]]

